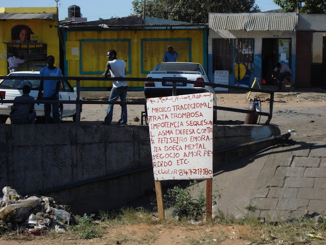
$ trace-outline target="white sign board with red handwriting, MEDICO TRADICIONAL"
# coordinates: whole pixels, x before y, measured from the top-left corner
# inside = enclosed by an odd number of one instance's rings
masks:
[[[213,176],[213,95],[147,99],[155,180]]]

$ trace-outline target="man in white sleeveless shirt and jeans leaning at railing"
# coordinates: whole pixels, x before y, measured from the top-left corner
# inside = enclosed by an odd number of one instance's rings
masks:
[[[117,51],[114,49],[109,50],[107,53],[108,63],[106,64],[106,68],[103,77],[108,77],[108,73],[110,71],[111,77],[125,77],[125,62],[121,59],[117,58]],[[120,97],[120,101],[126,101],[128,83],[127,81],[112,81],[113,87],[111,90],[109,101],[116,101]],[[111,124],[112,116],[113,116],[113,104],[109,104],[106,109],[106,117],[102,124]],[[127,105],[121,104],[121,118],[118,125],[126,125],[127,124]]]

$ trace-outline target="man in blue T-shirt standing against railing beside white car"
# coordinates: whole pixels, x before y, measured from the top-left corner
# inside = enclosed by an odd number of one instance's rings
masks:
[[[62,71],[58,67],[54,66],[54,57],[52,55],[47,56],[47,66],[41,69],[40,77],[61,77],[61,75]],[[59,101],[60,83],[60,80],[41,80],[39,95],[37,99],[41,99],[41,92],[43,90],[42,99]],[[61,119],[58,103],[44,104],[44,123],[51,123],[51,105],[53,123],[60,123]]]

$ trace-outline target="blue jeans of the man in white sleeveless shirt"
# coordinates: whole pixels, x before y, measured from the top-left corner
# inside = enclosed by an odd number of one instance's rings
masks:
[[[120,97],[120,101],[126,101],[127,97],[127,90],[128,86],[125,87],[119,87],[115,88],[113,87],[111,90],[109,101],[117,101],[117,99]],[[113,104],[109,104],[108,108],[106,109],[106,117],[104,119],[104,122],[111,123],[112,116],[113,116]],[[118,124],[127,124],[127,105],[121,104],[121,118],[118,122]]]

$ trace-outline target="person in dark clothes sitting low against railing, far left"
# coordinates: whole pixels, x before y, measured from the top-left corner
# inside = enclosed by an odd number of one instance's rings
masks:
[[[30,96],[31,88],[28,85],[23,87],[23,95],[17,96],[11,106],[11,124],[34,124],[36,112],[34,109],[35,99]],[[24,104],[17,102],[25,102]]]

